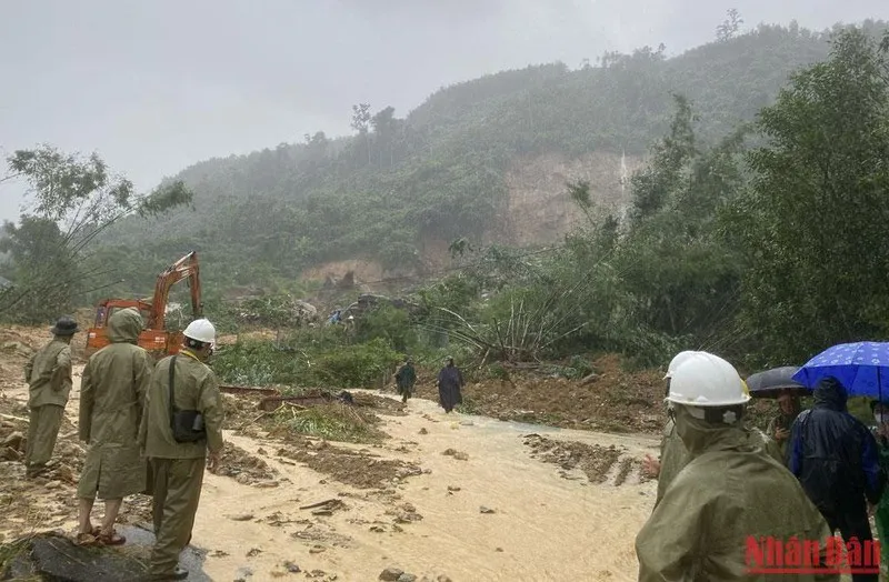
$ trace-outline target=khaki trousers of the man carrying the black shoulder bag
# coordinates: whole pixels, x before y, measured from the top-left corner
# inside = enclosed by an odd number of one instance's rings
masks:
[[[150,459],[153,473],[154,548],[150,574],[169,575],[191,541],[191,528],[201,498],[206,459]]]

